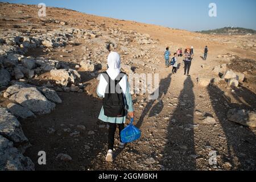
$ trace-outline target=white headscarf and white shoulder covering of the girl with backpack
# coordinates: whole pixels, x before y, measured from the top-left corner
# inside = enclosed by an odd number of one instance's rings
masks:
[[[108,56],[108,70],[106,71],[111,78],[115,80],[119,73],[121,72],[121,59],[117,52],[110,52]],[[127,76],[125,75],[122,80],[119,82],[119,85],[122,88],[123,94],[126,94],[128,88]],[[105,96],[106,87],[108,82],[105,80],[104,76],[100,76],[100,83],[98,84],[97,93],[101,96]]]

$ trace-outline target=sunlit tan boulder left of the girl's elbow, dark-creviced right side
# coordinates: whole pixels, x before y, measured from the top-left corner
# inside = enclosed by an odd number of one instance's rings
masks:
[[[81,82],[81,76],[73,69],[55,69],[51,72],[51,77],[56,81],[56,84],[63,86],[79,85]]]

